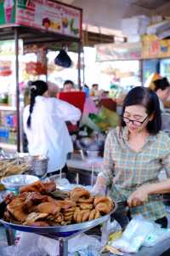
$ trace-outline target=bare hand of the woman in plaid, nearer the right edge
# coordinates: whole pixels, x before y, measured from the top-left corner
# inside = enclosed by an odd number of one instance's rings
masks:
[[[127,204],[129,207],[139,207],[148,201],[149,187],[144,185],[133,191],[133,193],[128,197]]]

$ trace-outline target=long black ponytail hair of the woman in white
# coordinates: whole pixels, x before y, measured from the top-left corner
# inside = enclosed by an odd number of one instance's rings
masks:
[[[27,126],[31,127],[31,113],[34,108],[35,100],[37,96],[42,96],[48,90],[48,84],[42,80],[37,80],[33,82],[28,82],[28,86],[31,89],[31,99],[30,99],[30,115],[27,119]]]

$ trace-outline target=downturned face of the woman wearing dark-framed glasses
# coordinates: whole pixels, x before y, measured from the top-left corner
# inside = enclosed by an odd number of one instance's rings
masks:
[[[140,105],[126,107],[123,114],[123,120],[131,133],[146,131],[146,126],[151,119],[146,113],[146,108]]]

